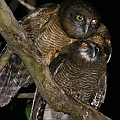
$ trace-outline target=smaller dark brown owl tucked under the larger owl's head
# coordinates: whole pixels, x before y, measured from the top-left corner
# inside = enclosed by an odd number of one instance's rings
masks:
[[[104,102],[107,87],[107,61],[101,47],[89,40],[75,41],[49,65],[53,80],[67,95],[96,109]]]

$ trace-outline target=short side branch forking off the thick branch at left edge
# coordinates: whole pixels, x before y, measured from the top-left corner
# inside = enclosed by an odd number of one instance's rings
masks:
[[[10,56],[13,54],[13,52],[8,48],[6,49],[6,47],[2,50],[0,54],[0,70],[7,64]]]

